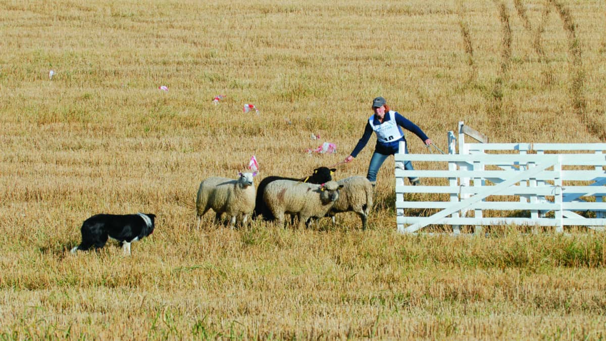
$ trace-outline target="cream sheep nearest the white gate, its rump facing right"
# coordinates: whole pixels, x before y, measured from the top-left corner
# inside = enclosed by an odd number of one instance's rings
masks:
[[[365,177],[348,177],[337,181],[343,188],[339,198],[328,211],[335,224],[335,214],[339,212],[356,212],[362,220],[362,229],[366,229],[368,213],[373,206],[373,186]]]

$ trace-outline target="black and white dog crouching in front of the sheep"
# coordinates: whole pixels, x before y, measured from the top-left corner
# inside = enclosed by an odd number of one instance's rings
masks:
[[[138,214],[97,214],[82,223],[82,243],[72,249],[86,251],[92,247],[101,249],[112,237],[122,243],[124,254],[130,255],[130,243],[141,240],[153,232],[156,215]]]

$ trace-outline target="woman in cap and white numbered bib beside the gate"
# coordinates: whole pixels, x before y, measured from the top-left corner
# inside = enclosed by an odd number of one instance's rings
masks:
[[[364,135],[356,144],[356,147],[351,152],[351,155],[345,158],[345,163],[351,162],[353,158],[358,156],[358,153],[364,149],[370,135],[372,135],[373,131],[377,135],[377,144],[375,146],[375,152],[373,153],[373,157],[370,158],[370,165],[368,166],[368,174],[366,177],[370,182],[375,186],[377,180],[377,173],[379,172],[379,168],[384,163],[385,159],[389,157],[389,155],[396,154],[398,152],[398,144],[400,141],[406,142],[404,138],[404,132],[402,132],[402,128],[404,127],[407,130],[415,133],[427,146],[431,145],[431,139],[425,135],[423,130],[416,126],[416,124],[408,121],[404,116],[400,115],[398,112],[393,110],[389,110],[389,106],[385,103],[385,98],[377,97],[373,100],[373,111],[374,115],[368,118],[366,123],[366,127],[364,129]],[[404,152],[408,154],[408,143],[405,143]],[[406,170],[414,170],[412,163],[410,161],[406,161],[404,163],[404,169]],[[410,183],[413,186],[421,183],[419,178],[408,178]]]

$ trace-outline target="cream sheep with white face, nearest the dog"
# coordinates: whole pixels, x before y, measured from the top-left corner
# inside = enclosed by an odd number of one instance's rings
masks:
[[[209,209],[215,211],[215,223],[221,222],[221,215],[225,212],[230,216],[231,228],[234,228],[239,214],[242,215],[242,225],[244,225],[255,209],[256,191],[253,177],[256,174],[256,172],[239,173],[239,178],[236,180],[211,177],[202,181],[196,196],[198,229],[202,215]]]

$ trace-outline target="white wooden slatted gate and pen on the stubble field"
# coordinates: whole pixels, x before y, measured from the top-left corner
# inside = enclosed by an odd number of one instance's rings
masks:
[[[450,225],[454,234],[461,225],[475,232],[487,225],[604,230],[606,143],[465,143],[462,130],[460,123],[460,154],[453,154],[456,139],[449,132],[447,155],[395,155],[399,232],[428,225]],[[404,170],[406,160],[418,169]],[[421,177],[424,186],[410,186],[407,177]]]

